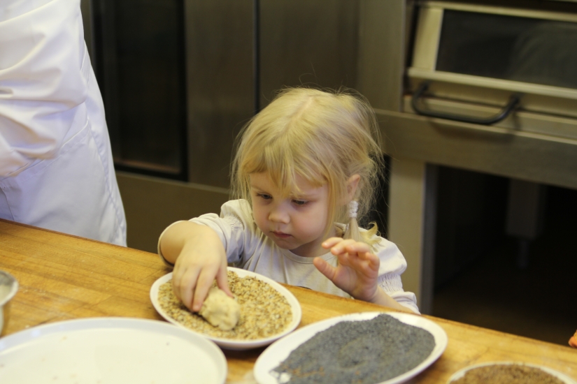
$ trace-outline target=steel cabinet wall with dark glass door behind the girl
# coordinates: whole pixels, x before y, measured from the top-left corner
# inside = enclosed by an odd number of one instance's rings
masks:
[[[241,126],[284,86],[356,87],[359,0],[83,0],[129,246],[219,212]]]

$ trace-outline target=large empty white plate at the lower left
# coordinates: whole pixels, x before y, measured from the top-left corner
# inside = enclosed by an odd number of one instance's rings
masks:
[[[214,343],[158,320],[86,318],[0,339],[2,383],[222,384]]]

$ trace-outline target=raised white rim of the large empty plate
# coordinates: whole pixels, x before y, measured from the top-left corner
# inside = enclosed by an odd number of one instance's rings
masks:
[[[199,346],[205,351],[204,355],[208,356],[215,362],[217,368],[216,383],[224,384],[227,380],[228,364],[225,354],[213,342],[197,334],[183,332],[178,327],[162,320],[153,320],[148,318],[134,318],[122,316],[103,316],[90,318],[73,318],[67,320],[55,321],[36,325],[24,330],[7,334],[0,338],[0,357],[3,353],[11,348],[17,348],[23,344],[34,342],[44,336],[58,334],[60,332],[83,332],[94,330],[117,330],[117,329],[148,331],[156,334],[169,334],[173,337],[179,337],[191,344]]]

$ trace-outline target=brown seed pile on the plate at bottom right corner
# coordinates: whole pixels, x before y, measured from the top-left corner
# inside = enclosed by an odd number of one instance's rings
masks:
[[[451,384],[563,384],[546,371],[522,364],[494,364],[466,371]]]

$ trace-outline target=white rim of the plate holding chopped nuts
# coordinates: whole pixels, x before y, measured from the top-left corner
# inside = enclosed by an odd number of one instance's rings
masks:
[[[196,332],[190,328],[185,327],[184,325],[178,323],[178,321],[171,318],[166,312],[164,312],[164,310],[160,307],[160,303],[158,302],[159,287],[162,286],[162,284],[166,283],[166,281],[169,281],[170,279],[172,279],[172,273],[165,274],[160,279],[155,281],[154,284],[152,284],[152,288],[150,288],[150,300],[152,301],[152,305],[155,307],[155,309],[158,311],[158,313],[160,313],[160,316],[165,318],[167,321],[169,321],[175,325],[178,325],[179,327],[182,327],[185,330],[188,330],[190,332],[194,332],[195,334],[199,334],[202,337],[206,337],[207,339],[214,341],[216,344],[218,344],[222,348],[228,348],[228,349],[234,349],[234,350],[245,350],[245,349],[250,349],[250,348],[258,348],[258,347],[262,347],[262,346],[268,346],[269,344],[271,344],[276,339],[280,339],[280,337],[283,337],[286,334],[289,334],[296,327],[299,326],[299,324],[301,323],[301,316],[302,316],[301,304],[299,304],[299,300],[297,300],[297,297],[294,297],[294,295],[292,293],[290,293],[290,291],[287,290],[287,288],[281,286],[279,283],[277,283],[276,281],[274,281],[272,279],[269,279],[266,276],[262,276],[262,274],[257,274],[255,272],[250,272],[250,271],[246,271],[245,269],[234,268],[234,267],[228,267],[228,270],[236,272],[236,274],[238,274],[238,276],[241,278],[246,277],[246,276],[252,276],[252,277],[255,277],[256,279],[259,279],[261,281],[269,283],[269,285],[272,286],[272,288],[274,288],[278,293],[280,293],[280,295],[283,295],[284,297],[286,297],[287,302],[290,304],[290,309],[292,311],[292,321],[285,328],[285,330],[283,332],[280,332],[279,334],[276,334],[272,337],[266,337],[264,339],[234,340],[234,339],[222,339],[220,337],[209,336],[208,334]]]

